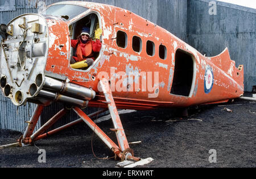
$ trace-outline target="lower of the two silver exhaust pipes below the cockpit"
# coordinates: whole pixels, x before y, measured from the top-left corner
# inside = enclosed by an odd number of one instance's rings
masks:
[[[82,101],[80,99],[68,97],[66,95],[52,93],[50,91],[41,90],[36,97],[47,98],[57,102],[69,103],[71,105],[86,107],[88,105],[88,101]]]

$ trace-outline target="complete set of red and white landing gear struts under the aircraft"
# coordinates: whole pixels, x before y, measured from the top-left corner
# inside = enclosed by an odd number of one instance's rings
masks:
[[[36,131],[34,134],[32,134],[32,132],[34,131],[34,128],[36,126],[36,123],[38,122],[39,116],[43,111],[43,107],[44,107],[43,105],[36,106],[35,111],[34,111],[33,115],[31,116],[30,122],[28,122],[26,131],[24,132],[22,142],[24,144],[32,143],[32,141],[42,139],[42,138],[48,136],[48,134],[54,134],[60,130],[63,130],[64,128],[72,126],[73,124],[81,122],[81,120],[84,120],[84,122],[96,133],[96,135],[102,141],[104,141],[104,143],[110,149],[112,149],[112,151],[115,153],[115,155],[117,155],[120,159],[124,159],[124,157],[126,157],[127,159],[132,159],[132,160],[137,160],[137,161],[140,160],[139,158],[134,157],[133,154],[130,153],[130,151],[132,151],[132,150],[129,148],[129,144],[128,144],[128,141],[127,141],[126,135],[125,135],[125,131],[123,130],[122,122],[119,117],[117,107],[115,106],[114,98],[112,95],[112,91],[110,90],[110,85],[109,85],[108,80],[106,80],[105,78],[102,78],[99,83],[100,83],[101,89],[103,90],[103,93],[104,93],[104,96],[106,99],[106,103],[108,103],[108,109],[109,109],[110,115],[112,117],[112,122],[114,125],[114,128],[112,129],[112,131],[115,131],[119,147],[79,107],[73,107],[73,110],[81,117],[81,119],[77,119],[74,122],[71,122],[62,127],[56,128],[55,130],[46,132],[45,134],[42,134],[49,127],[51,127],[52,124],[54,124],[64,114],[67,113],[67,109],[62,109],[57,114],[55,114],[51,119],[49,119],[47,123],[45,123],[42,127],[40,127],[38,131]],[[102,112],[104,112],[104,111],[102,110]],[[102,113],[102,112],[98,111],[95,114]],[[94,114],[92,114],[92,116],[93,115]]]

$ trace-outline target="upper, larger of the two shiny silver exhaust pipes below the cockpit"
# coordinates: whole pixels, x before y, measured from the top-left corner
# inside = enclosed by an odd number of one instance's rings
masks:
[[[61,94],[71,95],[84,100],[91,100],[96,95],[95,91],[92,89],[70,82],[55,80],[50,77],[46,77],[43,88],[58,91]]]

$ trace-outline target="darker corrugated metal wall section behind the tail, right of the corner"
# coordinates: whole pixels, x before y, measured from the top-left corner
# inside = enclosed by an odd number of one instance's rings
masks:
[[[216,56],[226,47],[236,66],[244,65],[245,91],[256,84],[256,9],[217,3],[210,15],[208,0],[188,4],[188,43],[206,56]]]

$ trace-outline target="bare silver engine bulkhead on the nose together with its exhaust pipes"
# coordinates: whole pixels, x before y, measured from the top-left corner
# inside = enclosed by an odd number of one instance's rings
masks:
[[[58,101],[86,107],[95,91],[46,77],[52,40],[48,26],[46,17],[39,14],[20,15],[5,26],[9,35],[1,44],[1,91],[16,106],[26,101],[42,105]]]

